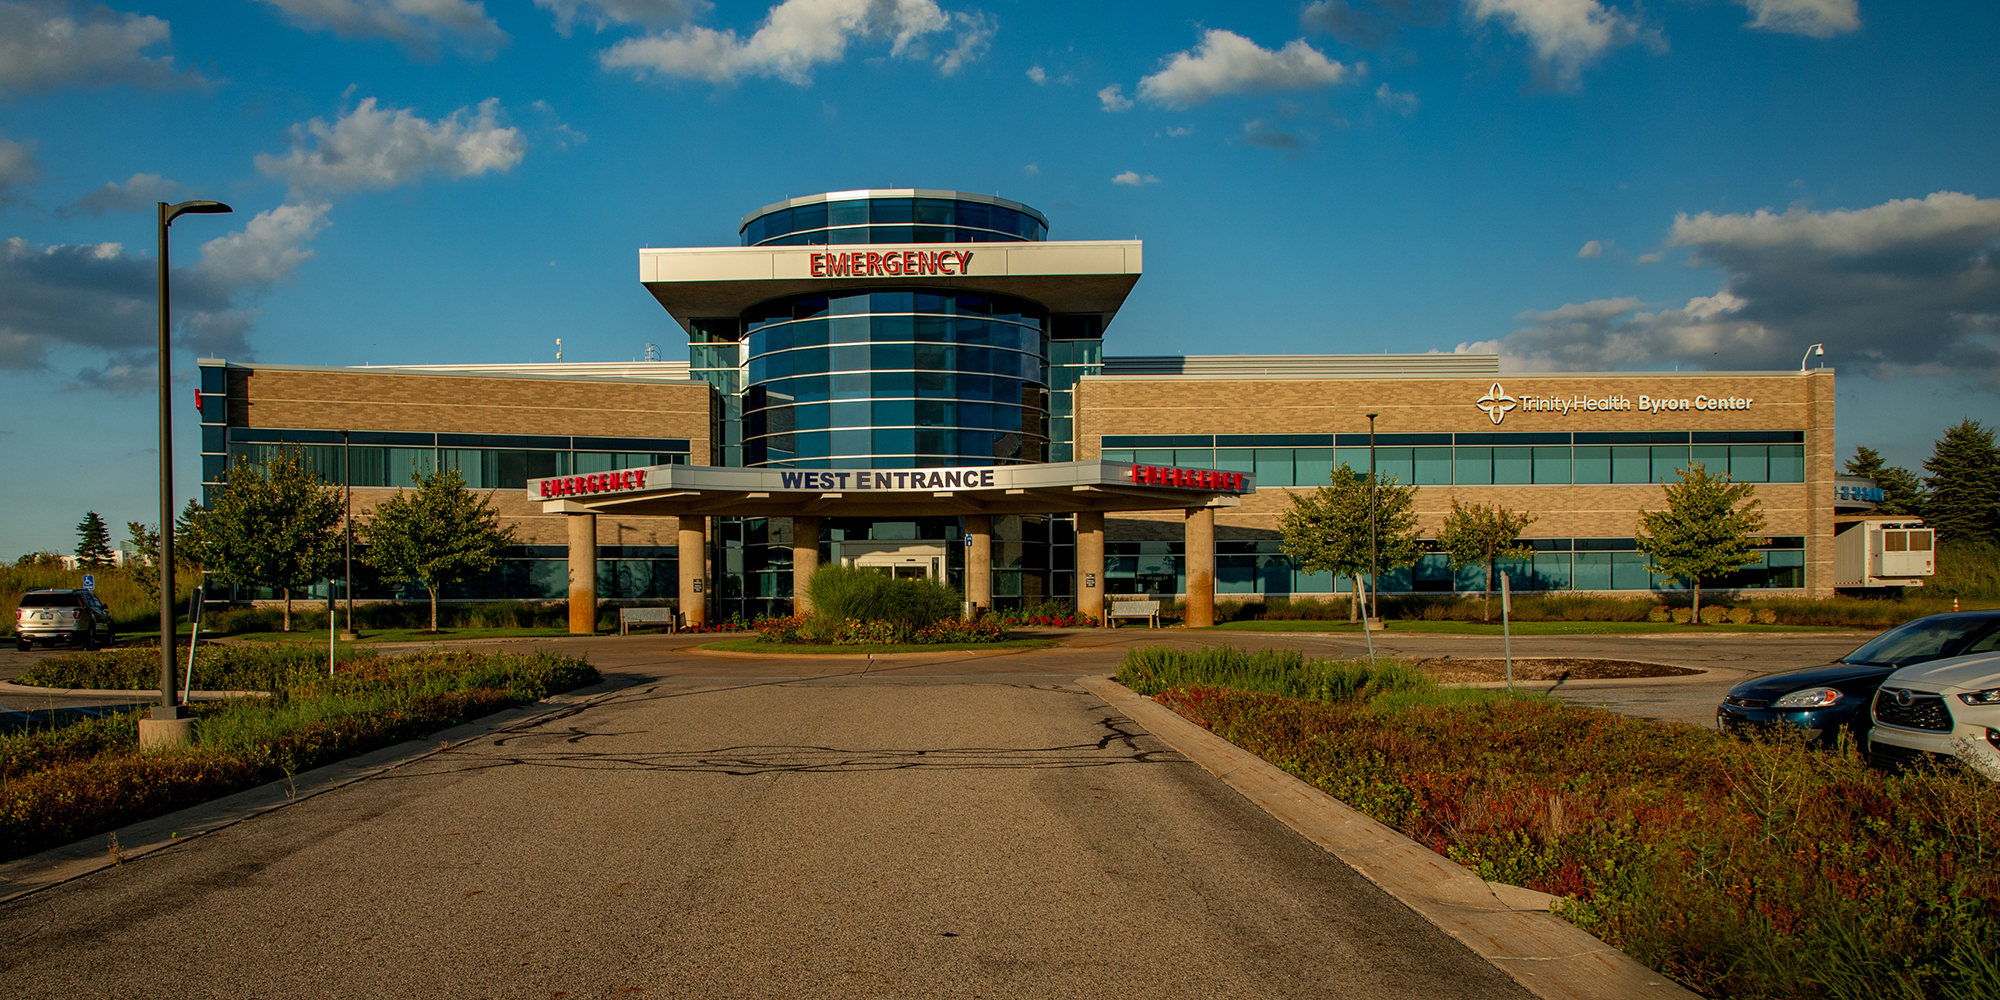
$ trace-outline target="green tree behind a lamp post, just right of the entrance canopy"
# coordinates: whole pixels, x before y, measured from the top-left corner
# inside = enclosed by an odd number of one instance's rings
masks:
[[[1286,500],[1290,508],[1278,520],[1284,536],[1282,552],[1304,572],[1354,580],[1354,592],[1348,596],[1352,620],[1362,594],[1362,576],[1368,572],[1368,476],[1338,466],[1326,486],[1286,494]],[[1374,502],[1376,566],[1382,570],[1416,566],[1422,556],[1416,486],[1402,486],[1388,476],[1376,484]]]

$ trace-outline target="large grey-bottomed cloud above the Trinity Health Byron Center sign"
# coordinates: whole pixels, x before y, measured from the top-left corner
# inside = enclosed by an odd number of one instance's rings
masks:
[[[2000,386],[2000,198],[1936,192],[1872,208],[1682,214],[1668,236],[1726,272],[1712,296],[1524,312],[1528,326],[1462,350],[1530,370],[1784,370],[1806,344],[1862,374],[1962,374]]]

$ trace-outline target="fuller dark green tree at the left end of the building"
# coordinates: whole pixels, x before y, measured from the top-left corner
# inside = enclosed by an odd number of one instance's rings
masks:
[[[218,580],[282,590],[286,632],[292,590],[326,576],[340,556],[340,490],[322,484],[292,452],[264,468],[236,462],[216,506],[182,516],[188,528],[176,548],[188,546]]]

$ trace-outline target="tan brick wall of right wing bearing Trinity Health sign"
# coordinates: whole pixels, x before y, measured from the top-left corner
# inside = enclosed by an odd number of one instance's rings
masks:
[[[1506,412],[1496,426],[1476,400],[1500,382],[1520,396],[1696,394],[1748,398],[1748,410],[1668,412]],[[1534,430],[1804,430],[1806,482],[1758,484],[1770,534],[1806,536],[1806,588],[1832,592],[1834,374],[1616,374],[1496,378],[1326,378],[1326,380],[1174,380],[1086,378],[1076,386],[1076,456],[1098,458],[1104,434],[1378,434],[1534,432]],[[1276,530],[1286,488],[1262,488],[1242,506],[1216,512],[1218,526]],[[1536,514],[1530,538],[1626,538],[1642,508],[1666,504],[1660,486],[1426,486],[1416,512],[1426,534],[1460,502],[1502,504]],[[1178,510],[1122,514],[1180,522]]]

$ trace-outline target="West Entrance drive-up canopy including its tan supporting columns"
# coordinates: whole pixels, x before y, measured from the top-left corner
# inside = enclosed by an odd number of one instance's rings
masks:
[[[1214,624],[1216,508],[1238,506],[1256,478],[1210,468],[1054,462],[988,468],[790,470],[650,466],[528,482],[542,510],[570,520],[570,630],[596,630],[596,516],[678,518],[682,552],[708,550],[708,518],[792,518],[792,608],[808,610],[806,580],[820,564],[820,518],[958,516],[966,536],[966,600],[992,608],[992,518],[1074,514],[1078,612],[1104,618],[1104,514],[1184,510],[1188,624]],[[906,562],[908,558],[908,562]],[[856,554],[862,566],[936,576],[928,554]],[[900,570],[908,566],[908,570]],[[704,560],[680,560],[680,608],[708,622],[710,574]]]

